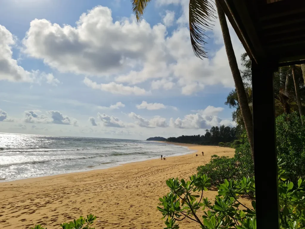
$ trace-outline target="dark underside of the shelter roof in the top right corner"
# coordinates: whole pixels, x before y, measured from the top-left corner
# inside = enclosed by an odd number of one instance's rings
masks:
[[[224,13],[257,64],[305,63],[304,0],[219,0]]]

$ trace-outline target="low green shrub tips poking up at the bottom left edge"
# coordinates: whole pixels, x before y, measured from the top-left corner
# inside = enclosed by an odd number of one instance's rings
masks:
[[[77,220],[70,221],[69,223],[60,224],[62,229],[95,229],[95,227],[89,227],[89,225],[93,224],[96,216],[92,214],[87,215],[85,219],[83,216],[79,217]],[[36,225],[34,228],[31,229],[47,229],[41,226],[41,224]]]

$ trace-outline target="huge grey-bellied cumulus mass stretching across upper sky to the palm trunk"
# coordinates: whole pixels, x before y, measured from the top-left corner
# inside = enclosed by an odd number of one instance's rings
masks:
[[[218,20],[209,40],[218,44],[217,49],[210,51],[210,59],[201,60],[190,42],[188,0],[157,0],[157,5],[168,4],[182,6],[180,26],[170,35],[163,24],[151,26],[145,20],[137,23],[128,18],[113,21],[109,8],[97,6],[83,13],[75,27],[33,20],[23,39],[25,52],[61,72],[113,78],[115,82],[102,84],[85,78],[84,83],[116,94],[144,95],[145,89],[131,85],[145,81],[151,82],[152,89],[175,87],[185,95],[206,85],[234,86]],[[167,12],[163,23],[168,24],[171,20],[165,18],[171,17]],[[244,49],[231,27],[230,31],[236,56],[240,56]]]

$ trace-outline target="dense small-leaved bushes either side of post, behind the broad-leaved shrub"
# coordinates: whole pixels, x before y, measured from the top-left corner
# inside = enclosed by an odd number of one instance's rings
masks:
[[[302,117],[303,118],[303,117]],[[233,158],[213,155],[206,165],[197,168],[198,175],[206,174],[211,184],[217,185],[224,179],[241,179],[254,176],[254,163],[246,133],[243,133]],[[290,181],[305,179],[305,127],[297,112],[279,115],[276,118],[277,157],[286,162]]]

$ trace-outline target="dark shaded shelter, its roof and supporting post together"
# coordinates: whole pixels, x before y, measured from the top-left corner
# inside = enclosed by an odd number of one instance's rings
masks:
[[[218,1],[252,63],[257,228],[279,228],[273,72],[305,63],[305,1]]]

